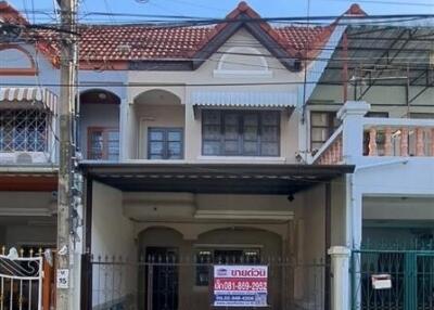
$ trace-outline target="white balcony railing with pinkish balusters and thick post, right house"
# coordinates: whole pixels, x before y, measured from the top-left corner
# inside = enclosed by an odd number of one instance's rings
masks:
[[[357,164],[367,157],[434,157],[434,120],[363,117],[365,102],[346,103],[342,126],[315,154],[319,165]]]

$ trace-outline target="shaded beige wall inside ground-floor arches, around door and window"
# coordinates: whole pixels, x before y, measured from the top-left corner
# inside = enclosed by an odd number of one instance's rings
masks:
[[[260,248],[264,257],[280,257],[282,240],[280,236],[253,228],[232,228],[215,230],[200,235],[196,240],[184,240],[170,229],[151,228],[143,231],[139,237],[139,244],[143,251],[150,246],[166,246],[176,248],[179,258],[184,261],[178,267],[180,285],[178,287],[179,310],[207,309],[210,302],[212,290],[207,286],[195,285],[195,268],[193,258],[197,249],[225,248],[225,246],[245,248],[246,246]],[[226,248],[227,248],[226,247]],[[190,262],[190,263],[189,263]],[[281,309],[282,268],[271,264],[269,268],[269,302],[271,309]],[[142,272],[145,276],[146,274]],[[142,289],[139,288],[142,292]],[[139,307],[140,300],[139,298]]]

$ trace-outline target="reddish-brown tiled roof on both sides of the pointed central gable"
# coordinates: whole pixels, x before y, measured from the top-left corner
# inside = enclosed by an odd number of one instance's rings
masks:
[[[0,2],[3,3],[3,2]],[[360,13],[358,5],[345,14]],[[260,17],[245,2],[227,15],[235,20],[240,15],[251,18]],[[207,48],[230,23],[214,26],[195,27],[152,27],[149,25],[81,25],[79,27],[79,59],[81,62],[127,62],[155,60],[189,60]],[[324,27],[283,26],[273,27],[266,22],[258,22],[279,49],[291,57],[315,56],[333,30],[333,24]],[[60,55],[58,34],[51,30],[37,30],[39,48],[53,63]],[[307,46],[308,43],[308,46]],[[209,49],[215,47],[209,47]]]

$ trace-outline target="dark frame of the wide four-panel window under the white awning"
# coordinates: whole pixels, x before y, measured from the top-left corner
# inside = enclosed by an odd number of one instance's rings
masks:
[[[218,112],[219,114],[220,114],[220,124],[219,124],[219,126],[220,126],[220,137],[219,137],[219,139],[218,140],[209,140],[209,139],[204,139],[204,127],[206,126],[206,124],[204,122],[204,117],[203,117],[203,114],[204,113],[207,113],[207,112]],[[270,113],[270,112],[272,112],[272,113],[276,113],[277,114],[277,120],[278,120],[278,124],[276,125],[276,126],[269,126],[268,125],[268,127],[277,127],[277,129],[278,129],[278,139],[277,139],[277,141],[276,141],[276,143],[277,143],[277,146],[278,146],[278,152],[277,152],[277,154],[276,155],[268,155],[268,154],[266,154],[266,155],[263,155],[261,154],[261,145],[263,145],[263,143],[267,143],[267,142],[264,142],[263,140],[261,140],[261,131],[263,131],[263,127],[266,127],[266,126],[263,126],[263,115],[264,115],[264,113]],[[227,139],[225,139],[225,115],[227,115],[227,114],[235,114],[237,115],[237,117],[238,117],[238,139],[237,139],[237,141],[238,141],[238,150],[239,150],[239,152],[238,152],[238,154],[230,154],[230,153],[225,153],[225,151],[224,151],[224,145],[225,145],[225,141],[227,141]],[[256,154],[245,154],[244,153],[244,142],[248,142],[248,140],[245,140],[244,139],[244,117],[246,116],[246,115],[250,115],[250,114],[256,114],[257,116],[258,116],[258,125],[257,125],[257,130],[258,130],[258,132],[257,132],[257,135],[258,135],[258,140],[257,140],[257,152],[256,152]],[[221,157],[231,157],[231,156],[234,156],[234,157],[248,157],[248,156],[251,156],[251,157],[279,157],[280,156],[280,153],[281,153],[281,112],[280,111],[245,111],[245,109],[243,109],[243,111],[237,111],[237,109],[204,109],[204,111],[202,111],[202,128],[201,128],[201,130],[202,130],[202,138],[201,138],[201,140],[202,140],[202,151],[201,151],[201,153],[202,153],[202,155],[203,156],[221,156]],[[215,141],[215,142],[218,142],[219,143],[219,145],[220,145],[220,154],[205,154],[205,152],[204,152],[204,142],[205,141]],[[275,143],[275,141],[272,141],[272,143]]]

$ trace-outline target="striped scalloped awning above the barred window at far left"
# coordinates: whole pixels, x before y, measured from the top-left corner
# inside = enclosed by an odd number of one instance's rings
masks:
[[[47,108],[55,115],[58,95],[47,88],[1,87],[0,108]]]

